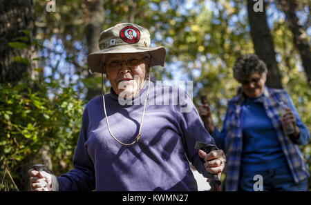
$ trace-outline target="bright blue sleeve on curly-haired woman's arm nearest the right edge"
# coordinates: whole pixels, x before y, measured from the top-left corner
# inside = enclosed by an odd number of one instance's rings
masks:
[[[294,106],[294,102],[292,101],[292,98],[290,95],[287,94],[287,100],[288,100],[288,106],[292,109],[292,113],[294,113],[296,117],[296,125],[300,130],[299,138],[296,139],[294,142],[299,145],[305,145],[308,144],[308,141],[310,140],[310,132],[308,128],[303,124],[303,121],[301,120],[301,117],[299,116],[298,111],[296,110],[296,107]]]

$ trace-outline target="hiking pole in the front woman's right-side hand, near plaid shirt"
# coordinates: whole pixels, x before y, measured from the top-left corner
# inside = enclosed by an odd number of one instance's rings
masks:
[[[202,150],[205,153],[210,153],[212,150],[218,150],[217,146],[214,144],[205,144],[201,141],[196,141],[196,146],[194,147],[198,150]],[[211,182],[209,185],[211,186],[211,191],[220,191],[220,180],[218,179],[217,174],[211,174]]]

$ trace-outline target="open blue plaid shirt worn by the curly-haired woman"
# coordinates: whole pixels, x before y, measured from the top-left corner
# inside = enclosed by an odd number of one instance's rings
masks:
[[[272,121],[276,130],[277,137],[281,143],[283,153],[287,159],[294,182],[301,182],[309,177],[308,168],[303,159],[299,145],[308,144],[310,139],[309,130],[301,121],[290,95],[285,90],[270,89],[265,87],[263,95],[258,98],[263,103],[267,117]],[[245,101],[245,94],[242,90],[238,91],[238,95],[230,99],[227,106],[225,120],[223,121],[223,129],[221,133],[216,128],[211,135],[214,137],[216,145],[225,151],[227,164],[225,167],[226,191],[238,190],[238,179],[240,177],[241,155],[243,150],[242,137],[243,128],[241,126],[241,111]],[[290,139],[283,132],[281,121],[279,121],[281,108],[280,102],[292,109],[296,117],[296,125],[299,127],[300,135],[298,139]]]

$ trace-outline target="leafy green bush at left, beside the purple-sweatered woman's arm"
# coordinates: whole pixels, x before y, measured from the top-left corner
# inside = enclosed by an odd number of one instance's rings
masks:
[[[49,97],[51,90],[55,90],[53,97]],[[2,167],[39,155],[43,145],[50,147],[55,162],[63,155],[73,155],[83,112],[83,101],[73,88],[52,81],[41,83],[35,92],[25,83],[2,84],[0,92]]]

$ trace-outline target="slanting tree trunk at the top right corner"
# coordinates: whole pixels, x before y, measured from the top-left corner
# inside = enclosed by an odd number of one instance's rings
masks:
[[[286,19],[288,19],[288,26],[292,31],[295,47],[299,50],[305,75],[308,79],[308,85],[311,86],[311,52],[308,43],[308,35],[303,30],[296,17],[297,3],[294,0],[278,0],[276,1],[278,7],[285,12]]]

